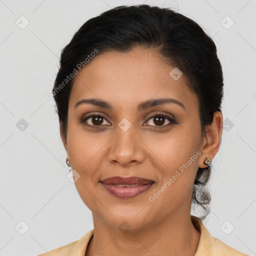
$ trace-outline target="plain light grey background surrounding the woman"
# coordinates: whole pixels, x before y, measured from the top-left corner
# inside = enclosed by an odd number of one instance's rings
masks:
[[[224,130],[203,223],[211,235],[256,255],[255,0],[0,0],[0,255],[43,253],[93,228],[91,211],[66,177],[54,101],[46,94],[61,49],[87,19],[143,2],[173,7],[214,39],[224,73]],[[24,234],[20,221],[29,226]]]

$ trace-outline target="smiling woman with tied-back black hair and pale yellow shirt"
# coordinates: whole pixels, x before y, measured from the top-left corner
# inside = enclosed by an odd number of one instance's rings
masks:
[[[246,255],[202,224],[223,76],[197,23],[156,6],[105,11],[62,50],[52,93],[94,229],[41,256]]]

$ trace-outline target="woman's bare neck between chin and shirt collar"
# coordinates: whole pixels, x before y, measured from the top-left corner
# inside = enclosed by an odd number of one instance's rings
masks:
[[[85,256],[172,255],[194,256],[200,232],[194,227],[190,213],[177,212],[161,223],[122,233],[97,216],[93,216],[94,233]]]

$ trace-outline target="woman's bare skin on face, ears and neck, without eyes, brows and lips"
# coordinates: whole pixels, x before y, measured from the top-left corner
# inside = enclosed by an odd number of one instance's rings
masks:
[[[86,256],[189,256],[196,252],[200,233],[190,220],[193,181],[198,166],[206,167],[204,158],[212,159],[219,149],[222,115],[215,112],[203,136],[198,98],[190,92],[184,74],[178,80],[169,75],[172,68],[156,50],[134,47],[125,53],[98,54],[74,77],[66,139],[61,126],[60,134],[71,167],[80,174],[76,189],[92,211],[94,235]],[[167,103],[137,110],[142,101],[166,97],[179,100],[185,109]],[[107,101],[112,110],[88,103],[74,108],[84,98]],[[85,114],[92,113],[105,118],[101,126],[92,122],[93,117],[80,123]],[[159,113],[176,123],[167,126],[167,119],[162,124],[149,119]],[[131,124],[126,131],[118,126],[123,118]],[[149,201],[196,151],[200,156],[155,201]],[[136,197],[121,199],[99,182],[110,176],[139,176],[155,183]],[[130,228],[126,233],[118,228],[123,221]]]

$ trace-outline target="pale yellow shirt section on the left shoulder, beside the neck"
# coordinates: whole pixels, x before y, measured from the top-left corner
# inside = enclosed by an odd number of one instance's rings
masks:
[[[44,252],[42,254],[39,254],[37,256],[83,256],[85,253],[85,249],[87,247],[87,244],[90,240],[90,238],[93,235],[94,229],[88,231],[85,235],[83,235],[79,240],[70,242],[64,246],[58,247],[56,249]]]

